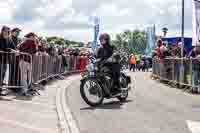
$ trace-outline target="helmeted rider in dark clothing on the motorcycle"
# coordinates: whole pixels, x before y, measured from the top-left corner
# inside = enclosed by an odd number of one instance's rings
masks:
[[[101,59],[102,61],[108,60],[114,53],[114,47],[110,44],[110,36],[107,33],[101,34],[99,37],[101,47],[97,51],[97,59]],[[110,69],[112,70],[115,90],[120,90],[120,64],[119,63],[112,63]],[[108,66],[108,67],[109,67]]]

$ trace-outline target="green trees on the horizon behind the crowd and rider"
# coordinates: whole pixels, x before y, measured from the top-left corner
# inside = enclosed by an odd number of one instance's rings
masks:
[[[47,37],[47,42],[54,42],[58,45],[83,45],[83,42],[71,41],[61,37]],[[118,50],[121,50],[126,53],[134,54],[145,54],[147,47],[147,34],[145,31],[141,30],[125,30],[124,32],[118,33],[115,36],[115,39],[112,40],[112,45],[114,45]]]

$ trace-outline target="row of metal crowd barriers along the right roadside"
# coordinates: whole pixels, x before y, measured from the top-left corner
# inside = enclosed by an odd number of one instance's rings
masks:
[[[153,77],[200,92],[200,61],[189,58],[153,59]]]

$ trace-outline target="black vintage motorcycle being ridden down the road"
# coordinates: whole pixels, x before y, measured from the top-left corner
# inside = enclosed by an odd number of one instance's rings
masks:
[[[113,54],[107,61],[100,61],[95,57],[90,57],[90,63],[86,67],[86,72],[82,74],[80,93],[83,100],[90,106],[98,106],[103,103],[104,98],[118,98],[125,102],[129,90],[131,90],[131,78],[124,72],[120,72],[120,91],[114,91],[114,80],[112,70],[106,63],[120,63],[122,58],[119,54]]]

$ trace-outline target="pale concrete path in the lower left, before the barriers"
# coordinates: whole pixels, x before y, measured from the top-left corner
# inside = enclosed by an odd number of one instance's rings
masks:
[[[27,99],[0,97],[0,131],[2,133],[58,133],[56,112],[57,83],[47,85],[40,96]]]

